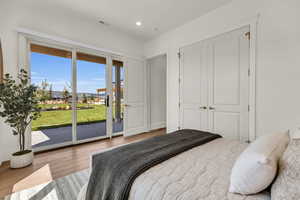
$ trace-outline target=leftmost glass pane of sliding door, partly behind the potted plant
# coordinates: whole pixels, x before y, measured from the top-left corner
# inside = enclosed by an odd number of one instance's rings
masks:
[[[31,82],[38,87],[41,116],[32,122],[32,146],[72,142],[72,52],[30,45]]]

